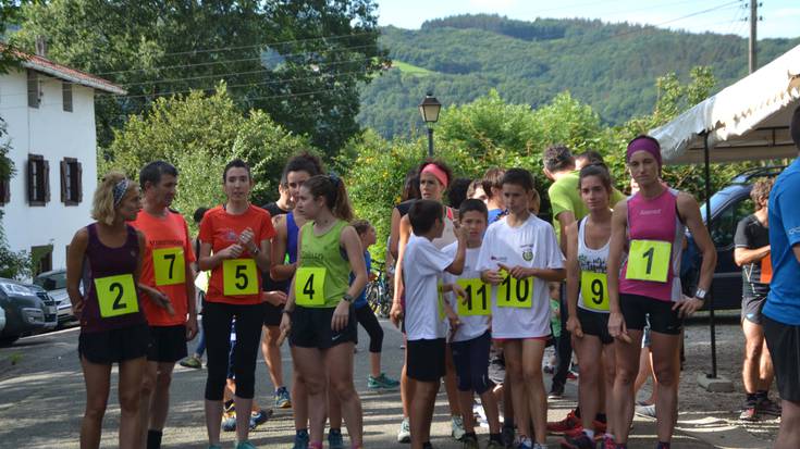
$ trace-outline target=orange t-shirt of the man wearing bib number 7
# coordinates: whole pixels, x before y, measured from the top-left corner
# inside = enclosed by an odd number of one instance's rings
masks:
[[[170,315],[143,291],[147,299],[141,301],[147,323],[151,326],[185,324],[189,301],[186,282],[193,282],[187,278],[186,267],[195,261],[186,221],[176,212],[168,212],[167,216],[160,217],[139,211],[131,225],[145,235],[146,241],[139,282],[167,295],[175,309],[175,314]]]

